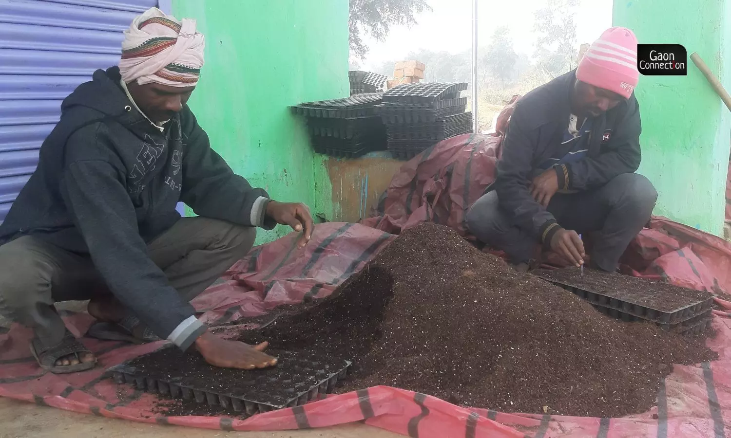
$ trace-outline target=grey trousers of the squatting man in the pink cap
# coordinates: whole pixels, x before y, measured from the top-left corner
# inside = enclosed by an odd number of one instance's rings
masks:
[[[640,174],[621,174],[600,188],[579,193],[556,193],[548,211],[558,225],[577,233],[594,233],[591,261],[613,272],[627,245],[652,215],[657,192]],[[539,243],[528,232],[514,226],[491,191],[478,199],[466,217],[467,227],[477,239],[505,251],[513,263],[528,262]]]

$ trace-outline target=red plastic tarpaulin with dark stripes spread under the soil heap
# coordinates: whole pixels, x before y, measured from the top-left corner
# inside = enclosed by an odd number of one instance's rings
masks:
[[[295,234],[254,248],[232,266],[224,283],[193,301],[200,318],[213,324],[230,323],[242,316],[262,315],[280,304],[327,296],[394,239],[393,233],[420,221],[446,223],[464,233],[463,213],[490,183],[497,156],[499,137],[460,136],[432,147],[395,175],[381,200],[384,214],[376,207],[374,218],[366,221],[377,228],[324,223],[315,228],[310,244],[302,250],[295,247]],[[439,157],[441,165],[429,157]],[[465,177],[468,170],[470,176]],[[651,220],[622,261],[622,269],[629,274],[690,288],[731,288],[731,245],[664,218]],[[162,342],[130,346],[83,338],[99,358],[99,366],[77,374],[50,374],[39,369],[29,353],[31,332],[19,326],[0,334],[0,396],[110,418],[226,431],[303,429],[366,420],[372,426],[422,438],[724,437],[731,432],[726,423],[731,418],[731,302],[717,302],[721,310],[714,311],[713,328],[718,334],[708,339],[708,345],[719,352],[719,360],[675,366],[659,391],[657,407],[627,418],[507,414],[458,407],[387,386],[329,396],[246,420],[168,417],[153,412],[156,396],[117,385],[103,374],[107,367],[155,350]],[[91,323],[86,314],[67,313],[64,318],[77,335]]]

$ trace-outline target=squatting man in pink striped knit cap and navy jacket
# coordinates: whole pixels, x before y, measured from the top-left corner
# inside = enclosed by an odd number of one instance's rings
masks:
[[[528,269],[542,243],[575,266],[613,272],[657,199],[640,166],[637,38],[607,29],[579,66],[523,96],[512,112],[495,183],[467,214],[470,231]]]

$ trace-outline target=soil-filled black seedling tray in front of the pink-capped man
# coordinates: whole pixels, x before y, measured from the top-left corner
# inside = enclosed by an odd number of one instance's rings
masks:
[[[624,320],[639,318],[662,326],[675,326],[705,315],[715,295],[659,281],[629,277],[616,272],[577,268],[535,272],[543,280],[561,286],[595,307],[607,308],[607,315]]]

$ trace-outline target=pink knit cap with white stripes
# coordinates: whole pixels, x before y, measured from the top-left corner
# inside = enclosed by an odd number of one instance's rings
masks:
[[[608,28],[591,47],[576,69],[581,82],[614,91],[625,99],[635,91],[637,71],[637,37],[628,28]]]

